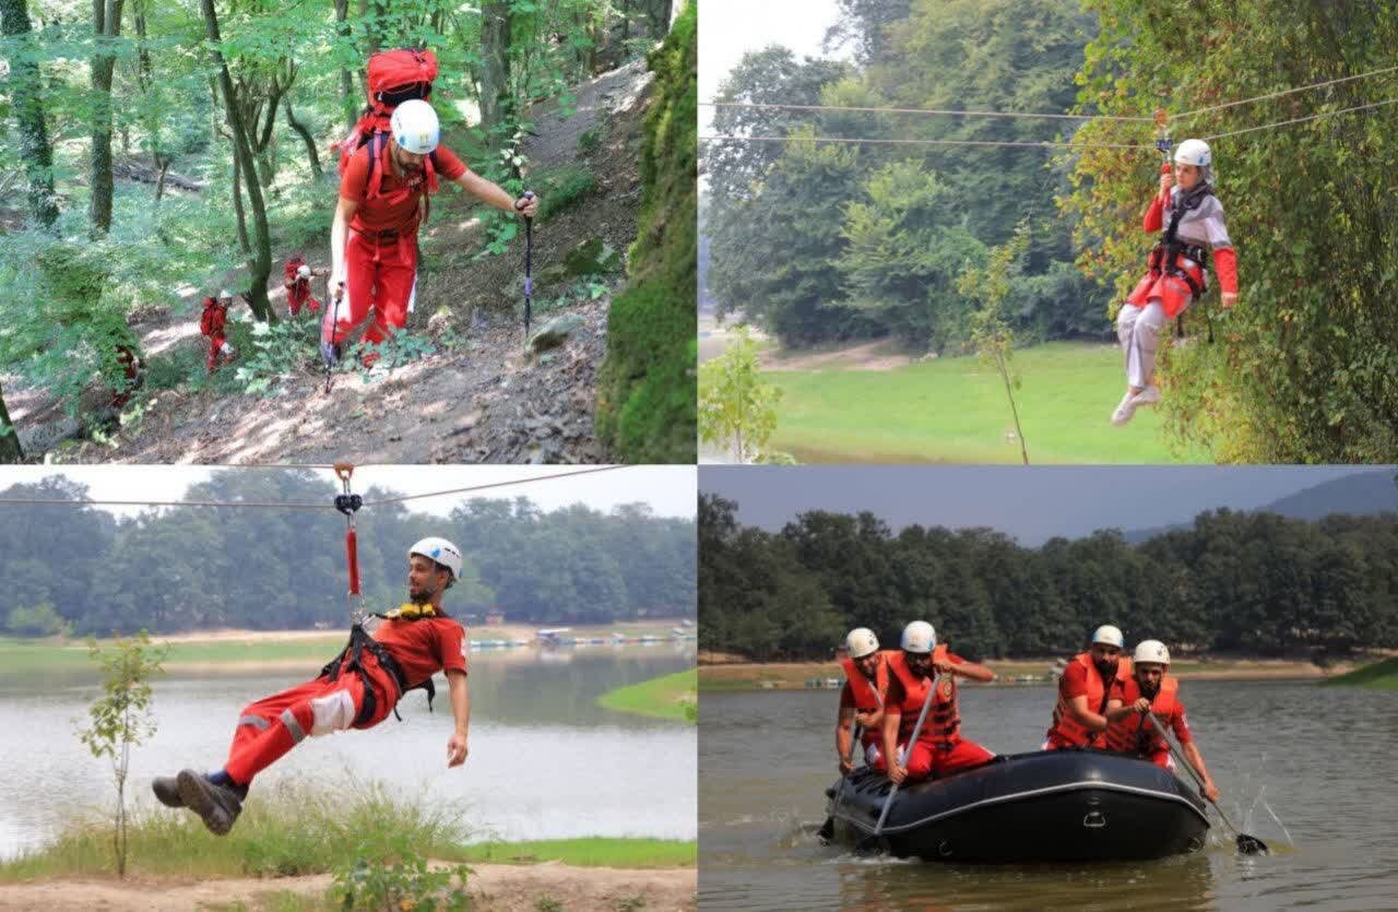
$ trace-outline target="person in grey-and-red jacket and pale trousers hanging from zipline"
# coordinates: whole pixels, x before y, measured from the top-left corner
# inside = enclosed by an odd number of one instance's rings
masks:
[[[1180,143],[1174,150],[1174,178],[1166,166],[1160,193],[1145,213],[1145,229],[1162,234],[1151,250],[1145,277],[1117,313],[1117,339],[1127,358],[1127,394],[1111,413],[1111,424],[1117,427],[1131,421],[1137,407],[1160,401],[1155,376],[1160,332],[1208,287],[1209,248],[1223,288],[1223,306],[1237,301],[1237,257],[1223,225],[1223,204],[1213,196],[1212,162],[1204,140]]]

